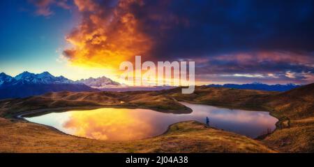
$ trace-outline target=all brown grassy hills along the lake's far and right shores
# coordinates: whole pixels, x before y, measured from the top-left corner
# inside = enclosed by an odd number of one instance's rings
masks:
[[[82,108],[82,106],[140,108],[139,106],[147,106],[144,109],[163,108],[177,111],[182,109],[183,107],[173,99],[232,109],[247,108],[247,106],[252,108],[253,106],[254,110],[261,108],[279,120],[272,133],[257,138],[257,140],[281,152],[313,152],[314,116],[313,110],[311,110],[313,90],[314,84],[292,89],[289,92],[260,92],[214,87],[195,87],[195,94],[189,95],[180,94],[179,88],[158,92],[56,92],[26,99],[0,101],[0,119],[6,117],[21,122],[21,119],[14,116],[40,108],[54,110],[54,108],[60,107],[64,109],[64,106],[72,106],[71,108]],[[80,100],[81,98],[84,100]],[[126,103],[121,105],[120,101]],[[232,105],[226,106],[226,103]],[[12,133],[14,132],[12,131]],[[35,133],[35,131],[30,131],[30,133]],[[290,138],[290,140],[286,140],[286,138]],[[300,138],[304,140],[304,145],[299,145]]]

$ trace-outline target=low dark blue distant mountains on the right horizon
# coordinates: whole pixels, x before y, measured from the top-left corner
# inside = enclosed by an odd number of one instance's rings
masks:
[[[285,92],[290,89],[294,89],[297,87],[301,87],[301,85],[295,85],[295,84],[276,84],[276,85],[267,85],[260,82],[253,82],[250,84],[225,84],[225,85],[207,85],[209,87],[226,87],[226,88],[234,88],[234,89],[253,89],[253,90],[263,90],[263,91],[278,91],[278,92]]]

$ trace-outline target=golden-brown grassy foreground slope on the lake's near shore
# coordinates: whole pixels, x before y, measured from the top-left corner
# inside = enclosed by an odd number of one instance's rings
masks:
[[[180,122],[154,138],[107,142],[0,118],[0,152],[274,152],[262,143],[198,122]]]

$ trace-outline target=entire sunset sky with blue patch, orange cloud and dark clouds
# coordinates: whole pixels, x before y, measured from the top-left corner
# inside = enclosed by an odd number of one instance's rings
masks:
[[[3,0],[0,72],[117,78],[195,61],[198,85],[314,82],[314,1]]]

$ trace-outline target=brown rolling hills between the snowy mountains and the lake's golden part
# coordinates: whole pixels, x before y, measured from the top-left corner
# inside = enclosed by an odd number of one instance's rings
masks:
[[[0,116],[47,108],[77,107],[148,108],[160,112],[190,113],[192,110],[158,92],[56,92],[25,99],[0,101]]]

